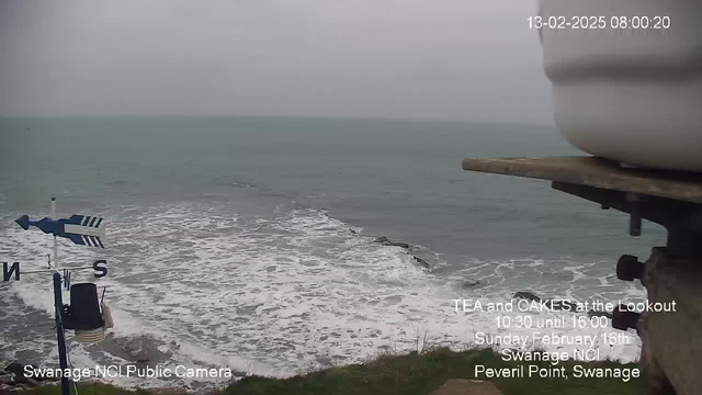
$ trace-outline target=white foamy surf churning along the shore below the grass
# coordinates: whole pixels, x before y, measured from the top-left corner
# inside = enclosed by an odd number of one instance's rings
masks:
[[[353,235],[349,225],[320,211],[281,210],[264,218],[239,215],[227,206],[180,204],[112,207],[105,214],[106,250],[61,240],[61,257],[71,264],[107,259],[110,273],[97,283],[107,286],[115,341],[154,339],[160,351],[172,353],[165,363],[286,376],[331,363],[360,362],[382,349],[412,350],[418,341],[421,346],[424,334],[432,343],[461,349],[477,331],[505,330],[496,327],[497,313],[456,313],[452,300],[503,302],[516,291],[520,275],[542,276],[532,282],[532,289],[552,296],[581,295],[587,287],[580,285],[587,269],[581,263],[570,262],[558,270],[524,259],[468,262],[458,275],[479,276],[488,286],[463,290],[456,286],[457,279],[434,275],[415,264],[406,250]],[[22,260],[27,268],[45,266],[50,237],[19,228],[0,233],[3,259]],[[441,262],[439,256],[437,259]],[[91,271],[75,273],[72,282],[93,281],[91,275]],[[551,276],[561,279],[561,285],[554,286]],[[0,339],[16,338],[16,332],[26,328],[22,315],[29,317],[31,309],[50,323],[50,281],[38,275],[25,279],[3,286],[9,291],[2,292],[3,305],[16,306],[15,295],[30,308],[13,307],[12,314],[20,316],[16,324],[1,329]],[[593,284],[595,293],[613,292],[609,282],[597,280]],[[636,289],[632,290],[633,294]],[[68,302],[67,292],[65,298]],[[510,331],[526,335],[533,330]],[[603,330],[555,331],[601,335]],[[52,349],[50,327],[39,332],[41,342],[24,339],[22,346],[42,352]],[[601,348],[602,357],[626,361],[636,359],[638,352],[636,341]],[[72,348],[75,365],[105,360],[125,362],[106,347]]]

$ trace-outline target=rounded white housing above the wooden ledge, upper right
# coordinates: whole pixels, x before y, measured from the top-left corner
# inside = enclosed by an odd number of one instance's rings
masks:
[[[604,30],[542,29],[563,136],[592,155],[702,171],[702,1],[541,0],[550,16],[604,15]],[[668,16],[667,31],[614,31],[612,16]]]

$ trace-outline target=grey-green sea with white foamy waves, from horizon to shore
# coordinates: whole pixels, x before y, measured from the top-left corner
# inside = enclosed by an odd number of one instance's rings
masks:
[[[641,286],[616,280],[614,263],[622,253],[647,258],[665,244],[663,229],[646,224],[632,238],[623,214],[545,181],[461,169],[464,157],[579,154],[551,125],[4,119],[0,261],[20,261],[24,271],[46,267],[53,239],[13,221],[48,216],[52,196],[61,217],[105,218],[104,250],[59,239],[61,264],[105,259],[109,268],[102,279],[72,273],[72,283],[106,286],[115,320],[99,345],[68,335],[76,368],[123,365],[146,352],[162,366],[286,376],[414,350],[424,338],[461,349],[478,331],[533,330],[496,325],[499,315],[523,314],[456,313],[453,300],[506,302],[517,291],[644,298]],[[410,248],[373,242],[378,236]],[[0,283],[0,362],[55,365],[53,311],[49,275]],[[601,357],[637,359],[641,346],[632,338],[599,345]]]

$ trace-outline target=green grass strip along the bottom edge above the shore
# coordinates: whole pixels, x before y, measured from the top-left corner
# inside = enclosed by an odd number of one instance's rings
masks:
[[[514,368],[520,364],[551,366],[550,362],[503,361],[492,350],[454,352],[449,349],[395,356],[383,354],[364,363],[337,366],[291,379],[245,377],[222,392],[227,395],[427,395],[450,379],[475,379],[476,364],[488,368]],[[561,362],[571,372],[575,362]],[[636,368],[634,363],[612,361],[580,363],[600,368]],[[485,377],[478,377],[485,380]],[[638,379],[490,379],[505,395],[634,395],[639,393]],[[125,391],[104,384],[82,383],[80,395],[137,395],[150,391]],[[58,387],[37,388],[30,394],[60,395]],[[178,394],[169,392],[168,394]]]

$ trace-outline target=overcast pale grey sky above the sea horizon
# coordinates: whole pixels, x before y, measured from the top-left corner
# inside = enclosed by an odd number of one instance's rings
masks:
[[[0,0],[0,114],[550,123],[535,0]]]

